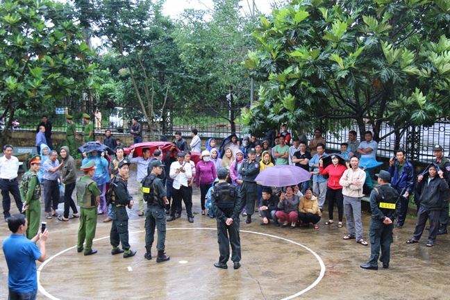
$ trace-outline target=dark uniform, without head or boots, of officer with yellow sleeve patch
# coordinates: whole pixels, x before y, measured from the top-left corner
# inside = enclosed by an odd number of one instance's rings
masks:
[[[156,175],[155,175],[156,176]],[[162,205],[163,197],[167,197],[163,181],[156,177],[153,180],[153,201],[147,201],[145,219],[145,247],[150,249],[155,240],[155,227],[158,228],[158,251],[165,250],[166,215],[165,206]],[[156,199],[155,199],[156,198]]]

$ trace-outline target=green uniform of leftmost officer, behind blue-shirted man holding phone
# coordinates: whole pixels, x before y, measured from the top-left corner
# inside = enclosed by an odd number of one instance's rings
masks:
[[[36,172],[30,169],[22,176],[19,190],[24,207],[29,205],[26,210],[26,238],[31,240],[38,234],[40,226],[40,184]]]

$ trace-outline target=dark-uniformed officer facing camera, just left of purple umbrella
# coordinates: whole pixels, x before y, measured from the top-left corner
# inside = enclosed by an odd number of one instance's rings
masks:
[[[258,198],[256,194],[256,181],[255,178],[259,174],[260,164],[256,160],[256,150],[251,147],[248,150],[249,158],[242,163],[242,169],[239,170],[239,174],[242,176],[242,186],[240,188],[240,197],[244,201],[247,209],[247,224],[251,223],[251,215],[255,211],[255,201]]]

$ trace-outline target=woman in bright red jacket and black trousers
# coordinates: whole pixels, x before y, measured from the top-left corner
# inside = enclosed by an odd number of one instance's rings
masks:
[[[328,199],[328,215],[329,220],[325,225],[333,224],[333,209],[334,203],[338,206],[338,227],[342,227],[342,215],[344,215],[344,196],[342,196],[342,185],[339,184],[342,174],[344,174],[347,167],[339,164],[339,157],[331,155],[331,165],[324,168],[324,162],[319,160],[319,172],[322,175],[328,174],[328,188],[326,188],[326,198]]]

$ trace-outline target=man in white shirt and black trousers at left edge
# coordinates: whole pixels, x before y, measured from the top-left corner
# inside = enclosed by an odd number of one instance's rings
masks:
[[[12,156],[14,148],[10,144],[3,146],[4,156],[0,158],[0,189],[1,197],[3,197],[3,216],[5,221],[11,217],[9,212],[11,208],[11,198],[9,193],[14,197],[19,213],[22,213],[22,198],[20,197],[19,185],[17,183],[17,171],[19,171],[19,160]]]

